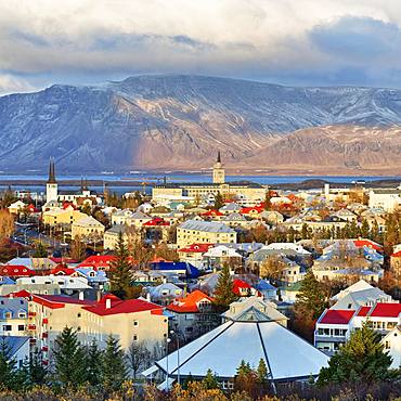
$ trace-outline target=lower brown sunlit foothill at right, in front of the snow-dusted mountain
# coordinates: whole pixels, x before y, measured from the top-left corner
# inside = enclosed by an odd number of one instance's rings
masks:
[[[401,128],[302,129],[245,158],[244,168],[313,173],[401,173]]]

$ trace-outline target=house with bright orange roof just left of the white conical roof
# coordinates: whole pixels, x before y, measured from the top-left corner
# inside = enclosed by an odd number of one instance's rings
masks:
[[[220,320],[212,301],[211,297],[198,289],[174,299],[167,306],[167,310],[172,314],[171,326],[180,332],[185,340],[209,332]]]

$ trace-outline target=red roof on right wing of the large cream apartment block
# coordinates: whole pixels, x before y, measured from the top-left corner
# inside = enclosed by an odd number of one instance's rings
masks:
[[[111,308],[106,308],[107,299],[111,300]],[[121,300],[113,294],[107,294],[102,297],[99,302],[83,307],[82,309],[99,314],[101,316],[117,313],[135,313],[144,311],[150,311],[153,312],[153,314],[157,314],[160,313],[159,311],[163,311],[163,307],[160,307],[159,305],[147,302],[142,299]]]

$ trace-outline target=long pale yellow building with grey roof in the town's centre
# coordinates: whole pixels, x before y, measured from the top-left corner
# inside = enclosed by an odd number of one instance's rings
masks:
[[[179,248],[191,244],[235,244],[236,232],[229,225],[187,220],[177,228],[177,245]]]

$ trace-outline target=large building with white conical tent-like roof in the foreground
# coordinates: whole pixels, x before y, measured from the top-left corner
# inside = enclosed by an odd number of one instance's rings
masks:
[[[241,362],[257,366],[260,359],[273,383],[307,381],[328,364],[327,355],[250,306],[179,351],[156,361],[142,374],[148,376],[161,371],[167,373],[167,380],[171,377],[173,381],[178,374],[183,380],[189,376],[202,379],[211,370],[223,389],[233,389]],[[166,383],[160,387],[165,388]]]

